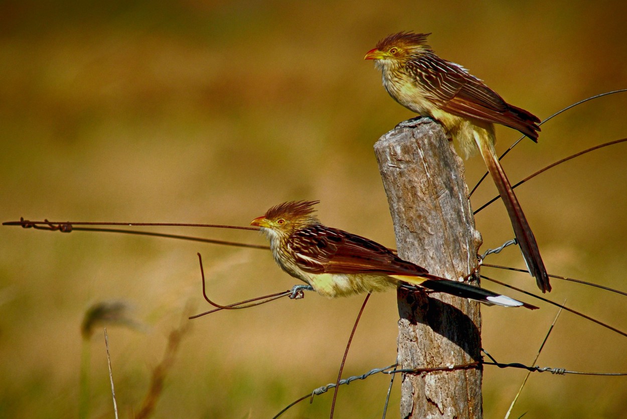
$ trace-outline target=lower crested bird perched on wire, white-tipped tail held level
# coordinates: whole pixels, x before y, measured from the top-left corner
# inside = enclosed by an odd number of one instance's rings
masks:
[[[326,297],[344,297],[409,284],[486,304],[538,308],[474,285],[430,275],[425,268],[399,258],[375,241],[322,225],[314,215],[317,203],[282,203],[250,223],[259,226],[270,240],[278,265],[307,284],[296,285],[292,297],[303,289]]]

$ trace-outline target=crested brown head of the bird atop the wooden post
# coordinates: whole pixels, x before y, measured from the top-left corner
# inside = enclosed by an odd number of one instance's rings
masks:
[[[375,60],[379,63],[403,64],[406,60],[421,55],[431,48],[426,45],[430,33],[399,32],[383,38],[377,48],[368,51],[364,60]]]

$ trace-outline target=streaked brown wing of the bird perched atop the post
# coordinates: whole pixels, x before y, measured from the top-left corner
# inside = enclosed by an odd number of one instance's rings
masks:
[[[497,92],[465,68],[424,55],[411,61],[413,73],[426,91],[426,97],[446,112],[514,128],[536,140],[540,120],[530,112],[505,102]]]

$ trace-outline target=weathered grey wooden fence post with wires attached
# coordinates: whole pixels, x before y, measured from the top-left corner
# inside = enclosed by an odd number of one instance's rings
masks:
[[[458,280],[477,267],[482,243],[468,201],[463,163],[439,124],[393,130],[374,146],[399,256]],[[478,277],[478,276],[477,276]],[[479,303],[445,294],[398,292],[401,368],[480,359]],[[481,418],[482,369],[403,374],[402,418]]]

